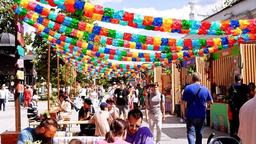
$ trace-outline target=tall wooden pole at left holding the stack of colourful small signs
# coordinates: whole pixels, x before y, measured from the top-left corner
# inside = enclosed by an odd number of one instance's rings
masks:
[[[17,37],[18,37],[18,28],[17,28],[17,23],[18,23],[18,14],[15,14],[15,70],[14,70],[14,76],[15,76],[15,88],[18,86],[20,83],[20,80],[16,76],[17,71],[19,70],[17,62],[18,59],[20,59],[20,55],[17,52],[17,46],[19,44]],[[18,93],[18,89],[15,89],[15,131],[20,132],[20,93]]]

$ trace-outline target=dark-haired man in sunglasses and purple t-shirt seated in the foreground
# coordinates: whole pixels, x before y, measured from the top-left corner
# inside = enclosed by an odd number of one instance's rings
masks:
[[[126,135],[126,142],[131,144],[153,144],[153,135],[148,127],[142,127],[142,112],[138,109],[132,109],[128,113],[126,123],[128,125],[128,132]]]

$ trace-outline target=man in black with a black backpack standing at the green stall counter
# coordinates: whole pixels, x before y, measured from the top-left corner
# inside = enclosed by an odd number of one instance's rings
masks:
[[[247,95],[250,98],[254,97],[254,93],[250,90],[246,84],[241,84],[243,77],[241,74],[235,76],[235,83],[228,87],[229,99],[228,99],[228,112],[229,112],[229,124],[230,124],[230,136],[237,137],[234,133],[238,133],[239,129],[239,110],[247,101]]]

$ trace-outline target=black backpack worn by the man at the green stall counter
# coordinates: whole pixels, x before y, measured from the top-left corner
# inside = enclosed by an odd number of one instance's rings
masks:
[[[239,111],[240,108],[238,103],[239,103],[239,93],[234,88],[234,84],[232,84],[230,86],[229,97],[228,97],[228,106],[232,113]]]

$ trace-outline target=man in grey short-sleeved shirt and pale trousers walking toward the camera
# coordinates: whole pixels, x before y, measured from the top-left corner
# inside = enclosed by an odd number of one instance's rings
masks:
[[[164,95],[159,92],[158,83],[151,84],[152,92],[146,97],[146,121],[149,122],[149,129],[154,137],[156,124],[156,143],[160,143],[162,122],[165,121]],[[162,112],[161,112],[162,111]]]

